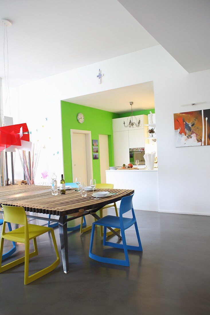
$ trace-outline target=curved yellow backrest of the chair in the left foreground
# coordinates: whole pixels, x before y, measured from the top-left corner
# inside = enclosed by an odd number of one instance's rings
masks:
[[[4,221],[28,226],[26,212],[23,207],[5,206],[2,204],[4,210]]]

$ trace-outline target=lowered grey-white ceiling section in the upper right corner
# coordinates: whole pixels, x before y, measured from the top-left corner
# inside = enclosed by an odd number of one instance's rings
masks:
[[[210,69],[209,0],[118,0],[188,72]]]

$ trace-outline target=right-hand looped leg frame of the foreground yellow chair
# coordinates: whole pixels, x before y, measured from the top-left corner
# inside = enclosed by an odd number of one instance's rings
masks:
[[[57,248],[57,243],[56,243],[56,239],[55,239],[55,233],[54,230],[51,229],[51,237],[53,240],[53,244],[54,244],[54,248],[55,248],[55,253],[56,253],[56,260],[48,267],[32,274],[31,276],[28,276],[28,264],[29,264],[29,255],[28,255],[28,248],[26,246],[25,248],[25,257],[27,255],[27,259],[25,258],[25,275],[24,275],[24,284],[29,284],[34,280],[37,280],[38,278],[41,278],[42,276],[46,275],[47,273],[51,272],[52,270],[54,270],[56,268],[56,266],[59,265],[60,263],[60,257],[59,257],[59,253],[58,253],[58,248]],[[35,240],[35,244],[36,244],[36,240]]]

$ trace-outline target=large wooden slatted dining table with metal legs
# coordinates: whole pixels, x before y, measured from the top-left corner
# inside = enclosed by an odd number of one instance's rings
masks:
[[[63,270],[67,273],[69,271],[67,222],[88,214],[99,219],[96,214],[99,209],[134,193],[133,190],[125,189],[103,189],[103,191],[108,191],[113,195],[96,199],[92,197],[92,191],[89,191],[86,197],[82,197],[78,191],[71,188],[66,190],[65,195],[58,192],[57,196],[52,196],[49,186],[10,185],[0,187],[0,204],[21,206],[25,211],[37,214],[59,216],[58,220],[40,216],[36,216],[36,219],[58,222]],[[3,213],[3,209],[0,212]],[[27,217],[34,218],[32,215],[27,215]],[[109,229],[120,237],[111,227]]]

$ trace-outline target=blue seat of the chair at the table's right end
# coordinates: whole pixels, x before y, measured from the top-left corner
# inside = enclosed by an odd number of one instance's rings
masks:
[[[123,218],[123,224],[125,229],[128,229],[135,222],[136,222],[135,218]],[[120,217],[116,217],[114,215],[106,215],[105,217],[94,222],[93,224],[116,227],[120,229]]]

